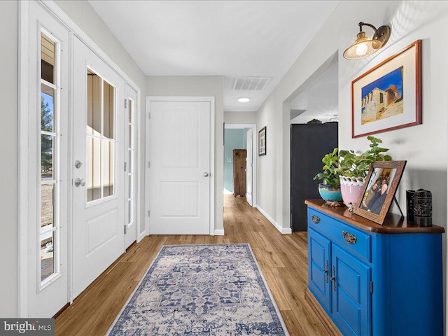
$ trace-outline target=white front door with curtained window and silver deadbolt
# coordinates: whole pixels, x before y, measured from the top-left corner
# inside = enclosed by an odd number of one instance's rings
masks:
[[[78,38],[73,59],[73,289],[124,252],[125,81]]]

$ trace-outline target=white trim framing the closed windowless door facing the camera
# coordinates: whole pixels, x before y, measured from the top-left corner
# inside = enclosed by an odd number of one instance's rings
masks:
[[[147,146],[148,139],[151,137],[151,119],[149,118],[150,106],[151,102],[210,102],[210,228],[209,234],[211,236],[214,235],[215,232],[215,97],[172,97],[172,96],[146,96],[145,105],[146,105],[146,156],[145,156],[145,172],[146,172],[146,181],[145,181],[145,218],[146,218],[146,230],[149,232],[149,216],[148,211],[149,203],[150,203],[150,195],[149,190],[151,186],[150,175],[151,169],[148,167],[148,162],[151,158],[150,146]]]

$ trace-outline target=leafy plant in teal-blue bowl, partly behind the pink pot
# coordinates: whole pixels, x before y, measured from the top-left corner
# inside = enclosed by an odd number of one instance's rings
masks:
[[[327,202],[342,202],[338,148],[335,148],[332,153],[325,154],[322,162],[325,164],[322,172],[314,176],[314,180],[322,180],[318,186],[319,195]]]

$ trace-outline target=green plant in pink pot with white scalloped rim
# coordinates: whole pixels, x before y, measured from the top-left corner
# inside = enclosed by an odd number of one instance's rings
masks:
[[[372,136],[367,137],[370,141],[370,149],[362,154],[354,151],[339,151],[339,179],[342,199],[347,207],[356,206],[360,193],[363,192],[365,177],[374,161],[390,161],[391,155],[386,155],[388,148],[381,148],[379,144],[383,141]]]

